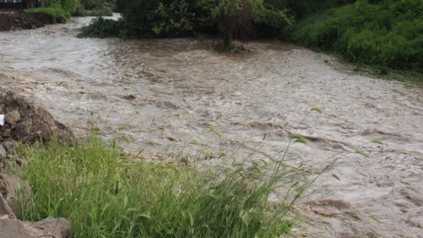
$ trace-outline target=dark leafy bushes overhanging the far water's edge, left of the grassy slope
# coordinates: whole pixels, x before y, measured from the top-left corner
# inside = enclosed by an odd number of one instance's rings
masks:
[[[232,39],[246,42],[266,35],[266,29],[278,35],[293,25],[286,8],[265,5],[263,0],[129,0],[116,1],[116,8],[123,14],[121,37],[220,33],[227,48]]]

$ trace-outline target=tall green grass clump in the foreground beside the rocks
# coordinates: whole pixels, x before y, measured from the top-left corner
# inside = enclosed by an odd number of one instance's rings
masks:
[[[19,153],[32,198],[18,215],[67,218],[73,237],[280,237],[290,232],[289,208],[308,185],[294,183],[296,172],[278,162],[216,171],[132,162],[95,135],[72,146],[22,145]],[[293,182],[293,199],[270,205],[281,181]]]

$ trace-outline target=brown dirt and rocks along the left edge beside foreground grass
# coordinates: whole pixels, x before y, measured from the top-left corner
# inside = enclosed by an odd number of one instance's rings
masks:
[[[72,142],[71,130],[54,120],[40,106],[12,92],[0,89],[0,238],[66,238],[72,233],[71,223],[64,218],[47,218],[37,223],[23,222],[16,218],[18,198],[30,199],[30,184],[11,174],[11,168],[20,171],[25,160],[16,154],[17,142],[45,142],[56,135],[60,142]],[[1,125],[4,124],[4,125]]]

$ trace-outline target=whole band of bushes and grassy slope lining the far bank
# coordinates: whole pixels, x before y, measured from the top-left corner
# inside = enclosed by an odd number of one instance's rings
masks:
[[[333,51],[348,61],[423,71],[421,0],[177,0],[117,1],[123,17],[97,19],[80,37],[186,37],[291,40]]]

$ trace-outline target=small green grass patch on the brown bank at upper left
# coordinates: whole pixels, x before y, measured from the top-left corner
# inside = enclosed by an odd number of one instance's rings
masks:
[[[60,7],[26,9],[25,13],[33,15],[44,23],[66,23],[71,14]]]

